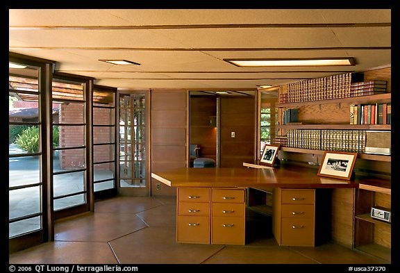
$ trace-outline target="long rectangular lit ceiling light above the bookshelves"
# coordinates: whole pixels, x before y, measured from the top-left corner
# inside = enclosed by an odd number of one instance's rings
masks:
[[[353,66],[353,58],[224,59],[238,67]]]

